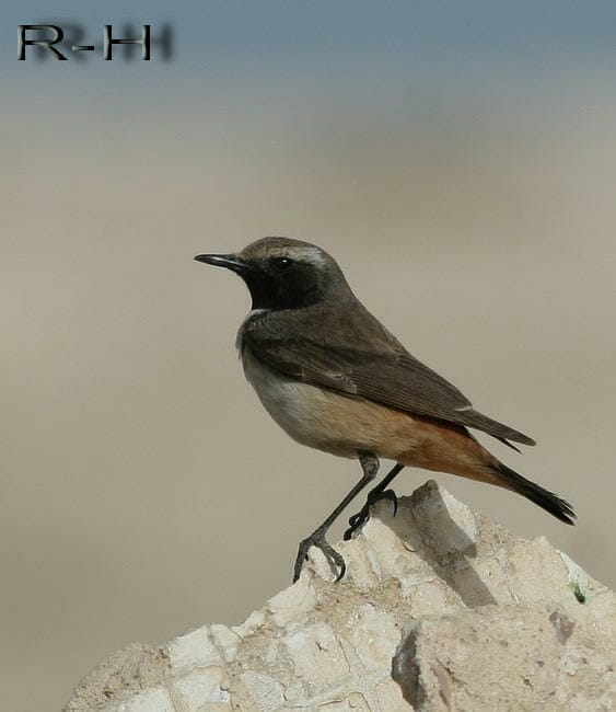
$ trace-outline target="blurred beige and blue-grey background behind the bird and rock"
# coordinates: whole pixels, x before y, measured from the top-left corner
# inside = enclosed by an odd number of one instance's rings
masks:
[[[246,289],[193,262],[265,234],[324,246],[411,353],[534,436],[490,447],[579,525],[442,485],[616,585],[616,5],[57,9],[1,10],[3,707],[57,710],[131,641],[241,622],[357,481],[270,422],[233,345]],[[42,21],[97,44],[168,23],[171,56],[18,61]]]

